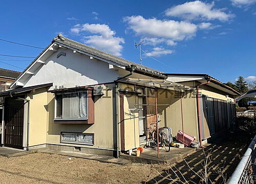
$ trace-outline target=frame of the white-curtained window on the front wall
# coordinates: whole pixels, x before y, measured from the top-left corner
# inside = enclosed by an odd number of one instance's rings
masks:
[[[87,108],[86,108],[86,111],[87,111],[87,117],[86,118],[79,118],[79,108],[80,108],[80,99],[79,99],[79,93],[86,93],[86,105],[87,105]],[[63,118],[63,95],[67,95],[67,94],[77,94],[77,97],[78,97],[78,118]],[[62,118],[57,118],[56,115],[57,115],[57,100],[56,100],[56,96],[57,95],[62,95],[62,109],[61,109],[61,112],[62,112]],[[77,121],[77,120],[80,120],[80,121],[84,121],[84,120],[88,120],[88,116],[89,116],[89,104],[88,104],[88,91],[87,90],[79,90],[79,91],[69,91],[69,92],[65,92],[65,93],[56,93],[55,94],[55,97],[54,97],[54,121]]]

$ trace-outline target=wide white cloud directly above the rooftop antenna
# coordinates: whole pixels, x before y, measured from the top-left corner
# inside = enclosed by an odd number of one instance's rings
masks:
[[[137,35],[151,38],[165,38],[173,41],[184,40],[196,35],[197,26],[185,21],[145,19],[142,16],[124,17],[129,29]]]

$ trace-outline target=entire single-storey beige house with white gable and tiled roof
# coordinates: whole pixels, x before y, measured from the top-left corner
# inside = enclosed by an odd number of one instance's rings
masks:
[[[160,126],[172,127],[173,135],[183,123],[184,131],[199,140],[195,87],[204,77],[175,80],[171,74],[58,34],[11,84],[11,90],[0,93],[6,127],[2,143],[27,150],[48,147],[118,156],[119,151],[147,144],[158,118]],[[217,115],[210,114],[202,140],[220,132],[206,136],[210,126],[227,130],[234,116],[233,98],[239,94],[214,79],[208,81],[200,88],[216,97]],[[198,99],[204,109],[204,98]],[[207,117],[204,111],[199,115]],[[212,125],[213,117],[220,119],[218,124]]]

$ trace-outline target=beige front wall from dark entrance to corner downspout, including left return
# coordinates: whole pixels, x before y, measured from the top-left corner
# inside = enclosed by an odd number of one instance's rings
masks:
[[[46,88],[36,89],[29,94],[30,100],[30,136],[29,146],[55,144],[62,146],[94,147],[113,150],[113,98],[112,87],[108,85],[108,96],[95,96],[95,123],[55,124],[54,94]],[[94,133],[94,145],[60,143],[60,132]]]

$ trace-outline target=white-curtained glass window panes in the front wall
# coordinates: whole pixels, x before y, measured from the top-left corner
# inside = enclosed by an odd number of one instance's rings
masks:
[[[87,119],[87,92],[55,95],[55,119]]]

